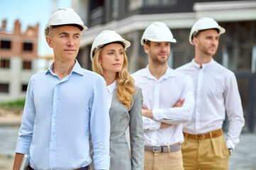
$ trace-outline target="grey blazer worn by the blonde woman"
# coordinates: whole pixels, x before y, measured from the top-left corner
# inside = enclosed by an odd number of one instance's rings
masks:
[[[135,86],[135,88],[138,88]],[[144,169],[144,135],[142,119],[143,94],[140,88],[134,94],[129,110],[118,101],[116,89],[113,91],[109,117],[110,131],[110,167],[109,170]],[[130,128],[130,152],[126,140],[126,129]],[[92,169],[92,167],[91,167]]]

